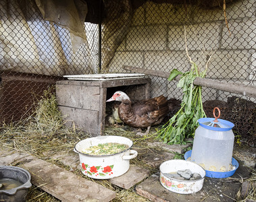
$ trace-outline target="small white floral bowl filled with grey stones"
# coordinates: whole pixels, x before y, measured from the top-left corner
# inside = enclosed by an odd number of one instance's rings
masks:
[[[169,160],[160,166],[160,182],[174,193],[192,194],[203,188],[205,170],[186,160]]]

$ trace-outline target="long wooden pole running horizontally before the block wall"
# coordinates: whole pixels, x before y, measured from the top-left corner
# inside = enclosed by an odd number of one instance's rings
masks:
[[[153,75],[153,76],[163,77],[163,78],[168,78],[170,75],[170,73],[166,73],[163,71],[143,69],[140,67],[123,66],[123,69],[129,70],[135,73],[145,73],[146,75]],[[174,79],[178,81],[180,79],[180,75],[178,75]],[[217,80],[205,79],[201,77],[197,77],[193,83],[194,85],[197,85],[197,86],[215,88],[217,90],[223,90],[226,92],[232,92],[236,94],[241,94],[243,96],[256,98],[256,86],[246,86],[244,84],[230,83],[230,82],[228,83],[226,81],[217,81]]]

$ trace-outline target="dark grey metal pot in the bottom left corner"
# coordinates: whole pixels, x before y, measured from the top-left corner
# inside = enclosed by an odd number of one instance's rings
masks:
[[[27,170],[15,166],[0,166],[0,178],[11,178],[23,183],[14,189],[0,190],[0,201],[25,201],[28,189],[32,186],[31,176]]]

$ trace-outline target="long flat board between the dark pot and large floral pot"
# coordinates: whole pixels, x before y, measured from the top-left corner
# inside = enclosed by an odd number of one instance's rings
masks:
[[[33,158],[22,165],[31,182],[61,201],[111,201],[116,193],[54,164]]]

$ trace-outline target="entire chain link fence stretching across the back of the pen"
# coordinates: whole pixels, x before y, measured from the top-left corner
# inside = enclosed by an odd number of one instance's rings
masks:
[[[34,1],[27,2],[26,12],[17,1],[0,1],[1,121],[21,119],[31,110],[34,95],[41,96],[63,75],[129,72],[124,65],[189,71],[186,47],[201,70],[211,57],[207,78],[256,86],[255,1],[232,1],[225,10],[223,5],[106,2],[108,21],[103,19],[101,30],[86,22],[87,43],[74,51],[70,31],[43,20]],[[151,97],[182,99],[178,81],[148,76]],[[237,130],[247,139],[255,133],[255,98],[203,88],[203,101],[209,100],[225,102],[222,113],[233,112],[225,119],[245,123]],[[205,106],[209,117],[212,107]],[[237,108],[251,113],[236,114]]]

